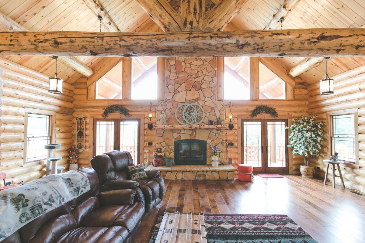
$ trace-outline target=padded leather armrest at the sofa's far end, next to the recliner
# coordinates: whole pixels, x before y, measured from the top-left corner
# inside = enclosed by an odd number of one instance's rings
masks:
[[[131,189],[112,190],[101,192],[98,196],[101,206],[108,205],[132,205],[137,193]]]

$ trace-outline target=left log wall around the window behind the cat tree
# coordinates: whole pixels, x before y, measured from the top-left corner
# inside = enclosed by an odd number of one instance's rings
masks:
[[[0,172],[7,173],[7,181],[31,181],[45,175],[45,161],[23,162],[24,122],[27,108],[55,112],[55,138],[61,144],[56,156],[58,165],[68,169],[66,149],[71,145],[73,119],[73,86],[64,83],[63,94],[48,92],[48,77],[40,72],[0,58],[2,124],[0,136]],[[0,113],[0,114],[1,114]]]

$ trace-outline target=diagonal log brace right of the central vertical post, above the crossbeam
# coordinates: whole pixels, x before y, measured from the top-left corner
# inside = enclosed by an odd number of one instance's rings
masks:
[[[247,0],[220,0],[205,15],[203,30],[222,31],[246,2]]]

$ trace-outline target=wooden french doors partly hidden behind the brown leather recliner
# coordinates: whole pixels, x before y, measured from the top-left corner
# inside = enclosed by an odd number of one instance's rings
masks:
[[[93,156],[111,150],[128,151],[139,163],[140,119],[94,119]]]

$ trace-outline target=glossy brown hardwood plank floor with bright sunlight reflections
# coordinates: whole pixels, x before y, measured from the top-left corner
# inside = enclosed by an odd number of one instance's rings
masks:
[[[322,180],[285,175],[255,182],[165,181],[164,200],[142,220],[136,243],[147,243],[166,212],[286,214],[319,243],[365,242],[365,196]]]

